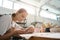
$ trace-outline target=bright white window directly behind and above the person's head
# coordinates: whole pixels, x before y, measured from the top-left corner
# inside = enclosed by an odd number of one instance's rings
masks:
[[[20,8],[26,9],[28,14],[35,15],[35,7],[27,5],[25,3],[14,3],[14,9],[15,10],[18,10]]]

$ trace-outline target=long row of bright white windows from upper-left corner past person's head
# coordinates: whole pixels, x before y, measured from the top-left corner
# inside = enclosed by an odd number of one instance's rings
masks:
[[[32,5],[26,4],[26,3],[22,3],[22,2],[13,2],[9,1],[9,0],[0,0],[0,6],[4,7],[4,8],[8,8],[8,9],[13,9],[13,10],[18,10],[20,8],[24,8],[27,10],[28,14],[31,15],[35,15],[35,8]]]

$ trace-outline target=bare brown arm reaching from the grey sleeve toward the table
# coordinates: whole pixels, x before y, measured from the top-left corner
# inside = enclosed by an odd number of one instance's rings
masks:
[[[7,40],[13,35],[23,34],[23,33],[25,33],[24,30],[15,30],[14,28],[11,28],[4,35],[0,36],[0,39]]]

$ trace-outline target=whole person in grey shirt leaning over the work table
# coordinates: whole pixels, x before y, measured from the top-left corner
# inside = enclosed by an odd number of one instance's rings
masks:
[[[0,17],[0,40],[8,40],[11,36],[24,33],[34,32],[33,27],[27,29],[21,29],[18,26],[14,26],[11,20],[15,23],[16,21],[22,21],[26,18],[27,12],[25,9],[19,9],[15,14],[11,16],[4,15]],[[12,18],[12,19],[11,19]],[[13,25],[11,25],[13,24]]]

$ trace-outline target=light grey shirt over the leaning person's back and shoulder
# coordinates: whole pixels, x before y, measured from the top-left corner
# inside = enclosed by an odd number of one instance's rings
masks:
[[[0,35],[4,35],[8,28],[11,26],[11,17],[9,15],[3,15],[0,17]]]

